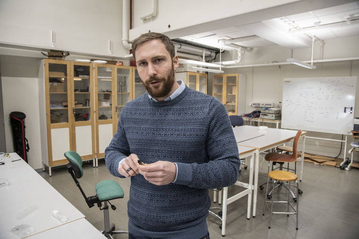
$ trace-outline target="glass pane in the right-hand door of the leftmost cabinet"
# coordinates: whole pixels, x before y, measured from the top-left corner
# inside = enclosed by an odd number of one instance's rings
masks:
[[[74,106],[75,122],[91,120],[90,65],[74,64]]]

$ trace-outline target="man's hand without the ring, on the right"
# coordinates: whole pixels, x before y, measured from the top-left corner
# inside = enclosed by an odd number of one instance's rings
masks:
[[[147,165],[138,165],[139,173],[155,185],[166,185],[176,179],[177,167],[173,162],[157,161]]]

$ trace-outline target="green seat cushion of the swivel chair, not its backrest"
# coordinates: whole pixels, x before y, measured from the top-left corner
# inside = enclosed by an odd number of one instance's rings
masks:
[[[115,198],[123,198],[124,192],[121,186],[114,180],[104,180],[96,185],[96,193],[100,201]]]

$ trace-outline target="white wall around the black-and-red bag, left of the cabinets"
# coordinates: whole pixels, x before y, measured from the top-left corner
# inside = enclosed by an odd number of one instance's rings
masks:
[[[39,99],[37,78],[1,77],[6,152],[14,152],[13,133],[9,114],[23,112],[25,137],[29,141],[28,163],[34,169],[42,167],[40,150]]]

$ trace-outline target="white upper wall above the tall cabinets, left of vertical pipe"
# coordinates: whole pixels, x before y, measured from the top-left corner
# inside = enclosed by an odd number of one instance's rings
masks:
[[[127,55],[122,45],[121,0],[1,0],[0,42],[51,48],[50,30],[57,49]]]

